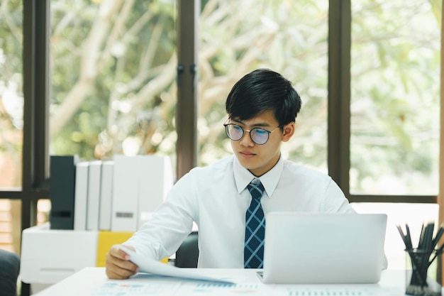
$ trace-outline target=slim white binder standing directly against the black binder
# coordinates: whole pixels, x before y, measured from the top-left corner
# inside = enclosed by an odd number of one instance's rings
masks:
[[[87,230],[88,170],[89,162],[77,163],[74,194],[74,230]]]

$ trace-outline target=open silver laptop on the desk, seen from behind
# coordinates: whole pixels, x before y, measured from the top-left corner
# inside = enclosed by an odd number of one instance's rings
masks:
[[[386,214],[272,212],[265,217],[263,283],[377,283]]]

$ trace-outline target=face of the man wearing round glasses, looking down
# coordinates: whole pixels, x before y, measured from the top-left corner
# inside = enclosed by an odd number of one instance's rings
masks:
[[[252,128],[264,128],[268,131],[273,131],[279,126],[272,111],[267,111],[245,121],[231,118],[229,123],[237,124],[248,131]],[[231,147],[239,163],[243,165],[244,168],[250,170],[253,175],[259,177],[276,165],[277,160],[279,160],[281,143],[282,141],[289,141],[292,137],[294,133],[294,123],[292,122],[284,126],[283,132],[280,128],[274,130],[269,134],[267,143],[263,145],[258,145],[253,142],[248,131],[244,132],[240,140],[231,140]]]

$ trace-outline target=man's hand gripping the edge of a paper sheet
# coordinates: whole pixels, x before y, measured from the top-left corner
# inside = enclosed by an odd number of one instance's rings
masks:
[[[115,280],[123,280],[138,273],[138,265],[129,261],[130,256],[118,248],[119,245],[111,246],[109,252],[106,253],[106,275],[108,278]],[[132,246],[126,248],[135,251]]]

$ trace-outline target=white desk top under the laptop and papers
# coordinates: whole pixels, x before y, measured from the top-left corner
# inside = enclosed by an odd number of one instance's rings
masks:
[[[384,270],[374,285],[265,285],[255,275],[256,270],[198,269],[204,275],[229,278],[235,285],[204,281],[181,280],[138,274],[129,280],[109,280],[104,268],[84,268],[69,278],[36,294],[38,296],[226,296],[226,295],[405,295],[405,271]],[[338,292],[342,292],[339,294]],[[304,293],[302,293],[304,292]],[[309,294],[310,292],[310,294]],[[316,292],[316,293],[315,293]],[[323,292],[323,294],[321,294]],[[333,294],[335,292],[335,294]]]

